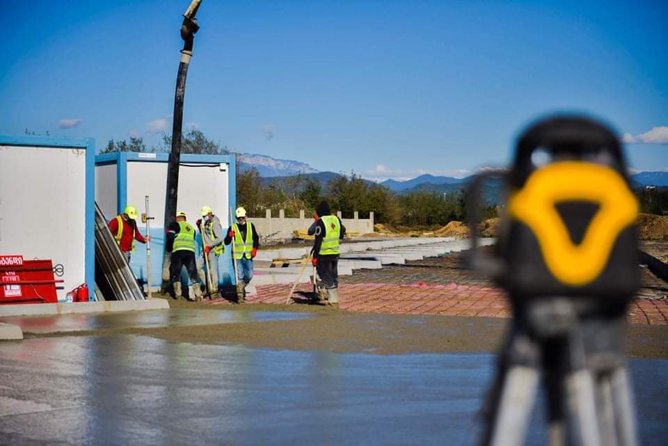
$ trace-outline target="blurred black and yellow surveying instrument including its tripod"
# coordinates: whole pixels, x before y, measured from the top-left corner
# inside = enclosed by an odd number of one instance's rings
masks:
[[[477,247],[486,180],[508,200],[493,255]],[[513,319],[482,410],[482,446],[525,441],[539,376],[552,446],[635,446],[623,329],[639,286],[638,206],[614,132],[557,116],[520,136],[514,164],[470,186],[472,266],[509,296]]]

